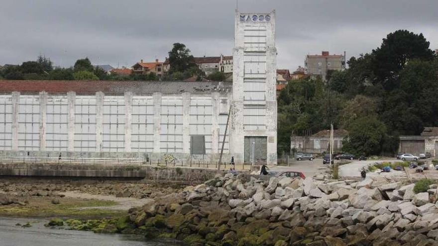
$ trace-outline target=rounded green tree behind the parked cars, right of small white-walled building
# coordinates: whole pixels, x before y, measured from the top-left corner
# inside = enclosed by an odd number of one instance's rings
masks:
[[[342,141],[342,150],[355,155],[379,155],[386,138],[387,129],[377,117],[355,119]]]

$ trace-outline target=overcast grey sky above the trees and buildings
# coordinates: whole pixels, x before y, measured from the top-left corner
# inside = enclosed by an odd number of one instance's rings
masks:
[[[164,60],[180,42],[194,56],[232,55],[235,0],[0,0],[0,65],[39,54],[69,67]],[[242,12],[276,9],[277,67],[306,54],[367,53],[397,29],[422,32],[438,49],[437,0],[239,0]],[[292,72],[291,71],[291,72]]]

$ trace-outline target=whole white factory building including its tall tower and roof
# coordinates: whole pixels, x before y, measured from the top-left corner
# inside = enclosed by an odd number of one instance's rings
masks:
[[[232,83],[0,81],[0,155],[276,163],[275,11],[235,21]]]

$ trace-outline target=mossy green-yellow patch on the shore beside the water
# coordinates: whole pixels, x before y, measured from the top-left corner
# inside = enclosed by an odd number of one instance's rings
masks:
[[[114,218],[125,214],[125,211],[100,209],[93,207],[107,207],[117,205],[113,201],[83,200],[74,198],[61,198],[60,204],[52,204],[49,197],[31,197],[29,204],[20,206],[16,204],[0,206],[1,216],[14,217],[63,217],[63,218]],[[81,209],[84,208],[84,209]]]

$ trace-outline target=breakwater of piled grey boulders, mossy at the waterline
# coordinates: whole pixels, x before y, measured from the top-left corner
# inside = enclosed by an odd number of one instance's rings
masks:
[[[136,233],[191,246],[437,245],[437,205],[413,188],[226,174],[131,209],[129,220]]]

